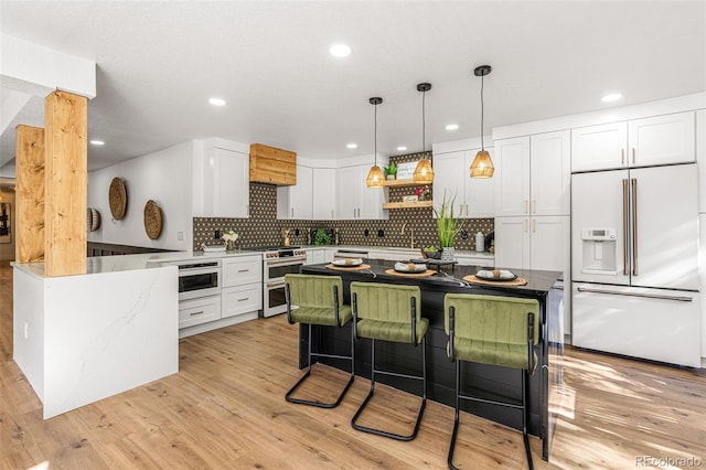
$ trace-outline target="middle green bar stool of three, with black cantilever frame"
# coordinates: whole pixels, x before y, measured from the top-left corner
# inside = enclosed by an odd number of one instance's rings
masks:
[[[381,282],[351,282],[351,307],[353,308],[353,334],[357,338],[368,338],[372,341],[371,391],[357,409],[351,425],[353,428],[384,436],[397,440],[413,440],[417,437],[424,408],[427,405],[427,352],[426,333],[429,321],[420,316],[420,291],[416,286],[397,286]],[[421,375],[400,374],[394,371],[375,368],[375,341],[392,341],[397,343],[421,343]],[[356,423],[365,406],[375,393],[375,375],[421,381],[421,406],[417,414],[417,421],[413,432],[408,436],[388,432],[361,426]]]

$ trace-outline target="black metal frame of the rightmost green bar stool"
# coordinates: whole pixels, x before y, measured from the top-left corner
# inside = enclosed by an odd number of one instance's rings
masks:
[[[453,413],[453,432],[451,434],[451,444],[449,445],[449,453],[448,453],[448,464],[449,469],[458,470],[458,467],[453,464],[453,451],[456,449],[456,438],[458,437],[459,430],[459,405],[460,399],[467,399],[471,402],[480,402],[488,403],[490,405],[505,406],[509,408],[522,409],[522,439],[525,444],[525,453],[527,455],[527,464],[530,466],[530,470],[534,470],[534,462],[532,461],[532,450],[530,449],[530,437],[527,435],[527,420],[530,419],[530,407],[527,403],[530,402],[530,397],[527,395],[527,382],[530,381],[530,371],[534,371],[534,313],[530,312],[527,316],[527,351],[528,351],[528,362],[527,367],[521,370],[522,372],[522,404],[517,405],[514,403],[507,402],[499,402],[494,399],[480,398],[477,396],[470,395],[461,395],[461,360],[458,360],[453,356],[453,328],[454,328],[454,313],[456,308],[449,308],[449,360],[456,364],[456,396],[454,396],[454,413]]]

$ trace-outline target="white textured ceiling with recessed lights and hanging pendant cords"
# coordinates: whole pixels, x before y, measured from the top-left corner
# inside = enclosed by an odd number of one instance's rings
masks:
[[[89,168],[208,136],[261,142],[302,157],[421,148],[485,129],[705,90],[704,1],[221,1],[0,2],[2,33],[97,63]],[[334,58],[345,42],[353,52]],[[622,102],[600,97],[621,90]],[[207,104],[227,100],[224,108]],[[39,104],[38,104],[39,103]],[[43,100],[13,127],[43,126]],[[445,130],[447,124],[460,127]],[[359,148],[349,150],[347,142]]]

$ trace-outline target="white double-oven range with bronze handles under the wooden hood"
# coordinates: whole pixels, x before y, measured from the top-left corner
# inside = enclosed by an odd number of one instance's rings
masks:
[[[263,312],[272,317],[287,311],[285,275],[299,274],[307,260],[307,252],[299,246],[264,246],[243,248],[263,253]]]

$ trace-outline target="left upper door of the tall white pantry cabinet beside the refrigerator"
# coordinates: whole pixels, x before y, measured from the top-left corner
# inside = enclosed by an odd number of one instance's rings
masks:
[[[530,213],[530,138],[496,140],[495,216]]]

